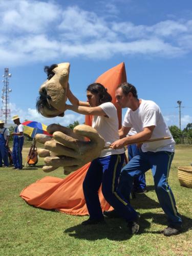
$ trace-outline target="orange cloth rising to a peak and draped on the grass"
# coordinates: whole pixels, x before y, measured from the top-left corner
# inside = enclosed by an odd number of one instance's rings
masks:
[[[121,82],[126,81],[124,63],[99,76],[96,82],[103,84],[113,98],[118,112],[119,127],[121,126],[121,108],[115,102],[115,89]],[[91,125],[91,116],[86,116],[86,124]],[[35,207],[56,209],[71,215],[88,215],[88,209],[83,196],[82,182],[90,163],[82,166],[65,179],[47,176],[24,188],[20,197]],[[99,199],[102,210],[109,210],[110,205],[105,201],[101,188]]]

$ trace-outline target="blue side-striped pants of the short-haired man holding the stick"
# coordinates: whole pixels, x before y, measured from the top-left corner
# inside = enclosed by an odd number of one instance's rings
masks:
[[[176,202],[170,186],[168,185],[168,175],[174,153],[167,151],[145,152],[133,157],[126,164],[120,174],[118,191],[122,195],[129,195],[133,184],[133,178],[144,174],[148,169],[152,169],[154,177],[155,191],[165,212],[170,225],[181,225],[182,220],[176,208]]]

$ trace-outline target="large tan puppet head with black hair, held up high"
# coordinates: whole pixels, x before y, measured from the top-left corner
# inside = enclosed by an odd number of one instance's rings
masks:
[[[69,81],[70,63],[53,65],[48,73],[48,79],[39,89],[37,111],[45,117],[64,116],[67,100],[67,86]]]

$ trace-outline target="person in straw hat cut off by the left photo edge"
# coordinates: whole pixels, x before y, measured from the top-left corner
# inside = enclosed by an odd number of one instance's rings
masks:
[[[4,166],[7,168],[9,166],[8,158],[8,147],[9,147],[9,130],[4,127],[4,121],[0,120],[0,167]]]

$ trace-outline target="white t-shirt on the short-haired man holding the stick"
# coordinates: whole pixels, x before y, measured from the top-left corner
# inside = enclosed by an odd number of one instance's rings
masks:
[[[155,125],[151,139],[168,137],[168,140],[159,140],[150,143],[143,143],[141,150],[143,152],[169,151],[174,152],[175,141],[166,125],[159,106],[151,100],[141,99],[139,108],[135,111],[127,109],[123,120],[124,127],[134,127],[137,133],[143,131],[144,127]]]

